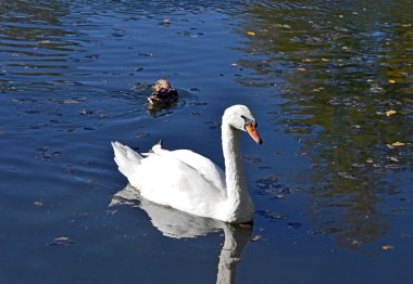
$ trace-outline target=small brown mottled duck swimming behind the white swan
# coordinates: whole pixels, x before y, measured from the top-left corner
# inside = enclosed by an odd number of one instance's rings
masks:
[[[152,86],[152,94],[148,98],[150,106],[168,106],[178,100],[178,92],[172,88],[171,82],[165,79],[159,79]]]

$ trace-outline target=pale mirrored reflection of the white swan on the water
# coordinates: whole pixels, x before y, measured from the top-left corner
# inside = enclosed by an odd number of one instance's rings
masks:
[[[152,224],[168,237],[197,237],[223,230],[225,242],[221,249],[216,283],[234,283],[236,266],[251,237],[252,227],[234,225],[154,204],[142,198],[129,184],[113,196],[109,206],[115,205],[133,205],[143,209]]]

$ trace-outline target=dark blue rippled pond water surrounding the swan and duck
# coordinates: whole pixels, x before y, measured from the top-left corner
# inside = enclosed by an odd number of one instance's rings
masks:
[[[1,1],[0,282],[409,283],[412,4]],[[222,165],[234,103],[253,228],[122,191],[110,141]]]

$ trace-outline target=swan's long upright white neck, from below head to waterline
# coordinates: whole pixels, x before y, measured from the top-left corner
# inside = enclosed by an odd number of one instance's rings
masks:
[[[225,159],[225,181],[229,222],[247,222],[252,219],[253,205],[243,178],[239,150],[240,131],[223,121],[222,142]]]

